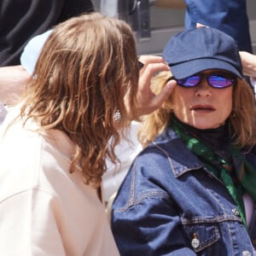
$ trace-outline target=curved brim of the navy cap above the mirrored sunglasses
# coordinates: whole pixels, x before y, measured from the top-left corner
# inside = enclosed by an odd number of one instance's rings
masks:
[[[185,61],[171,66],[172,75],[176,79],[184,79],[195,73],[201,73],[207,69],[222,69],[230,73],[234,73],[237,77],[242,78],[241,73],[226,61],[216,59],[196,59]]]

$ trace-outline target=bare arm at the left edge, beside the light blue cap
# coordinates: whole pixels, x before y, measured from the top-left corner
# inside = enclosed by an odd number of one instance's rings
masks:
[[[14,104],[21,96],[29,73],[22,66],[0,67],[0,102]]]

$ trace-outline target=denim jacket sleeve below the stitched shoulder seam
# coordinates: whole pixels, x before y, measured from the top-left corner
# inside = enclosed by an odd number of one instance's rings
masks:
[[[122,256],[196,255],[186,246],[177,212],[157,196],[125,212],[114,211],[112,229]]]

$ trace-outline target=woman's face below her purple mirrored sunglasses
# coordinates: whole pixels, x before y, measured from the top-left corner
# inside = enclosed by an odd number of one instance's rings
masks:
[[[201,72],[214,73],[214,69]],[[175,86],[173,90],[173,112],[177,119],[197,129],[205,130],[224,125],[232,110],[233,86],[216,89],[202,79],[193,88]]]

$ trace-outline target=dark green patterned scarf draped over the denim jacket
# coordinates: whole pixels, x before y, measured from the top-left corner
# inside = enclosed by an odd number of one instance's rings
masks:
[[[171,125],[177,136],[205,164],[207,170],[222,180],[236,202],[243,224],[247,226],[242,194],[246,190],[253,197],[253,201],[256,201],[256,169],[247,162],[238,148],[233,147],[232,149],[233,163],[231,165],[218,154],[214,154],[207,144],[193,137],[176,118],[172,117]],[[213,165],[212,163],[218,164]],[[236,173],[235,180],[230,175],[234,169]]]

